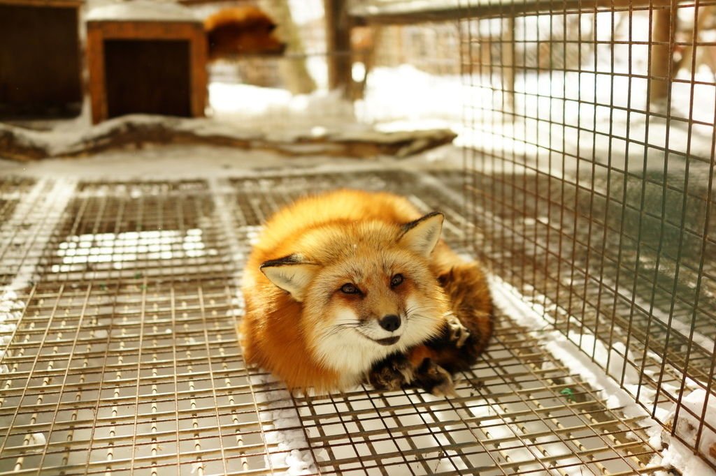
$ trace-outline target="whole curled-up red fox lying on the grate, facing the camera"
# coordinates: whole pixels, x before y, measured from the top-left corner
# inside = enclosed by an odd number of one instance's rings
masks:
[[[443,215],[407,199],[339,190],[269,219],[243,276],[246,361],[291,390],[415,385],[453,392],[492,332],[475,262],[440,239]]]

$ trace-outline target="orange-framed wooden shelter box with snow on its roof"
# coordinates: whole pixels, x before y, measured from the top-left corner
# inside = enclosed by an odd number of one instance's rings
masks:
[[[125,114],[203,116],[207,51],[202,23],[193,16],[161,19],[152,12],[132,16],[116,11],[124,7],[91,12],[87,22],[92,122]]]

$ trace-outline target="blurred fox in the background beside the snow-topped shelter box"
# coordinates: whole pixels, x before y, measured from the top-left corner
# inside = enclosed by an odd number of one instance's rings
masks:
[[[276,24],[256,6],[217,11],[204,21],[209,61],[236,54],[281,54],[286,44],[276,38]]]

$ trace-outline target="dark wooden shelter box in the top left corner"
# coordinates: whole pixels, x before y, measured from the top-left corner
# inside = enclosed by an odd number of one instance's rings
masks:
[[[81,0],[0,0],[0,117],[82,109]]]

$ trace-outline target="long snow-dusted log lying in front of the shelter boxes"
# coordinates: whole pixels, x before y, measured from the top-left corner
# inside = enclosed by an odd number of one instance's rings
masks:
[[[312,109],[312,108],[309,108]],[[325,110],[325,108],[322,108]],[[301,111],[304,109],[301,108]],[[294,124],[289,121],[294,117]],[[354,154],[372,157],[372,152],[356,152],[353,144],[367,144],[372,151],[390,147],[397,157],[445,144],[454,139],[449,130],[378,132],[366,125],[336,127],[335,117],[319,116],[321,124],[311,122],[308,114],[284,115],[284,126],[276,121],[261,123],[246,114],[231,121],[209,118],[186,119],[170,116],[129,114],[113,118],[74,133],[36,132],[0,124],[7,135],[9,150],[16,157],[64,157],[97,154],[102,149],[127,149],[160,144],[225,144],[239,149],[269,149],[289,156]],[[247,125],[248,124],[248,125]],[[300,125],[298,125],[300,124]],[[334,124],[330,129],[328,124]]]

